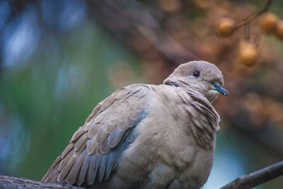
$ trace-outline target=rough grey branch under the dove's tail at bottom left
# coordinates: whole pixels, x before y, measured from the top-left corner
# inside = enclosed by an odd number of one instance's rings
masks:
[[[24,178],[16,178],[10,176],[0,176],[0,188],[1,189],[11,189],[11,188],[22,188],[22,189],[83,189],[77,186],[71,186],[67,184],[57,184],[57,183],[41,183],[38,181],[32,181]]]

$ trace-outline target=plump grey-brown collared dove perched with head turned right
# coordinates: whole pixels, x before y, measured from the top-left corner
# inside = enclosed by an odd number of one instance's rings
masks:
[[[221,71],[180,64],[161,85],[133,84],[98,103],[43,182],[88,188],[201,188],[212,168]]]

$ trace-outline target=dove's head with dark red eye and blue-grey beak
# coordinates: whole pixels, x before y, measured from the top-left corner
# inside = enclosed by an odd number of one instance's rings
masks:
[[[205,61],[191,61],[180,64],[163,84],[187,88],[204,94],[212,103],[222,94],[229,96],[223,88],[224,79],[220,69]]]

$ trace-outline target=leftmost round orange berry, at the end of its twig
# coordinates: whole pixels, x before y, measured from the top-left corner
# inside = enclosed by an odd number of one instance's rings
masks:
[[[229,37],[235,31],[236,24],[231,18],[221,18],[216,25],[217,33],[222,37]]]

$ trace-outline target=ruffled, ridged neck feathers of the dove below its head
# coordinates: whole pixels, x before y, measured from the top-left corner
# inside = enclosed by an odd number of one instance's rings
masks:
[[[168,88],[156,88],[156,93],[166,102],[164,105],[169,111],[173,109],[171,113],[178,125],[186,122],[187,127],[183,127],[184,133],[192,135],[200,147],[214,148],[220,117],[207,97],[194,88],[187,88],[180,84],[166,85]]]

